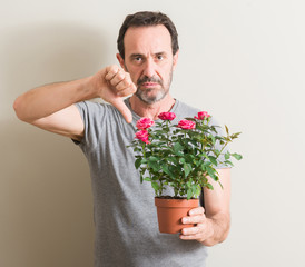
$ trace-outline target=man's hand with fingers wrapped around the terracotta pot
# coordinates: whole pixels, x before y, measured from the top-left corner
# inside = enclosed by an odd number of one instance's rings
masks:
[[[183,240],[197,240],[204,243],[214,235],[214,227],[205,215],[203,207],[189,210],[189,216],[183,218],[183,224],[195,225],[194,227],[184,228],[181,230],[180,239]]]

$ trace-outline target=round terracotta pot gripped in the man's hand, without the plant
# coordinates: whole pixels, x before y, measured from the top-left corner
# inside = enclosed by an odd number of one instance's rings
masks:
[[[188,211],[199,206],[199,199],[166,199],[155,198],[157,207],[159,231],[167,234],[180,233],[183,228],[194,225],[184,225],[181,218],[188,215]]]

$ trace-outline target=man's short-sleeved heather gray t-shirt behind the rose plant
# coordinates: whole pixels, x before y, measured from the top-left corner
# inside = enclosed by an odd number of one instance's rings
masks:
[[[128,99],[127,106],[130,109]],[[140,184],[132,148],[136,121],[125,121],[107,103],[76,105],[85,122],[79,146],[91,175],[96,227],[96,267],[205,266],[207,248],[196,240],[180,240],[178,234],[160,234],[150,182]],[[171,112],[176,121],[194,117],[198,110],[178,100]]]

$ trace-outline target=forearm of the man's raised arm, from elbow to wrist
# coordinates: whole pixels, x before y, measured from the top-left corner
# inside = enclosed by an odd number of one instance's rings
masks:
[[[47,117],[72,103],[96,97],[89,85],[90,77],[35,88],[20,97],[13,103],[19,119],[32,121]]]

